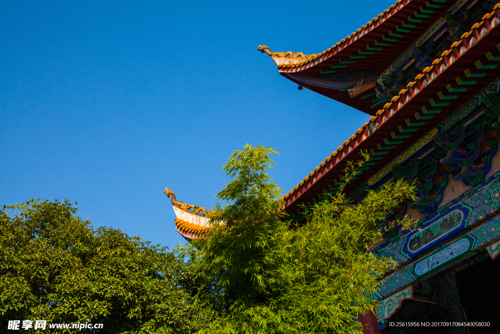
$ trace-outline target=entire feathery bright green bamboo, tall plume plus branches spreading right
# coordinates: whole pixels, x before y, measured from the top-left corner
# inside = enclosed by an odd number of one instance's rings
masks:
[[[360,203],[340,189],[304,208],[306,224],[290,226],[281,193],[266,174],[274,153],[246,145],[224,165],[232,180],[217,194],[214,227],[194,242],[199,252],[191,261],[203,280],[198,296],[216,312],[200,332],[360,333],[357,314],[373,308],[369,294],[395,265],[367,250],[380,239],[382,224],[404,224],[386,216],[413,198],[413,187],[389,183]],[[349,163],[343,185],[368,158]]]

